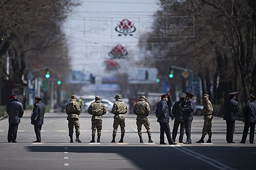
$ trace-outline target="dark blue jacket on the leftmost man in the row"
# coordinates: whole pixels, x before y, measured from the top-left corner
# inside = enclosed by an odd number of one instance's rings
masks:
[[[9,123],[20,123],[24,110],[21,102],[13,98],[7,103],[6,112],[9,116]]]

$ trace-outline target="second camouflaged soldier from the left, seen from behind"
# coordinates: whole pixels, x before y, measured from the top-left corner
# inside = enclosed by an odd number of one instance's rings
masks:
[[[92,141],[90,143],[95,142],[95,134],[96,129],[98,132],[97,142],[100,142],[101,129],[102,129],[102,115],[107,113],[106,106],[100,102],[100,97],[95,96],[95,102],[93,102],[89,108],[88,113],[92,116]]]

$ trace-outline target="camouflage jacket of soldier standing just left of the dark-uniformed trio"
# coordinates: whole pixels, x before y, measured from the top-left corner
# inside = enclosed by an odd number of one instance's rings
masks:
[[[148,102],[144,99],[139,99],[133,108],[133,113],[137,115],[137,120],[147,120],[147,116],[150,113]]]

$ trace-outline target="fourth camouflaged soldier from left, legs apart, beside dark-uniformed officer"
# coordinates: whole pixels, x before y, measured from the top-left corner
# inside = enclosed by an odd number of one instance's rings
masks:
[[[150,107],[148,102],[146,102],[145,96],[140,96],[139,101],[135,104],[133,113],[137,115],[137,129],[138,129],[138,136],[139,136],[139,142],[143,143],[142,140],[142,133],[141,133],[141,127],[142,124],[145,126],[147,133],[148,133],[148,142],[153,143],[151,140],[151,131],[150,131],[150,123],[148,121],[148,115],[150,113]]]

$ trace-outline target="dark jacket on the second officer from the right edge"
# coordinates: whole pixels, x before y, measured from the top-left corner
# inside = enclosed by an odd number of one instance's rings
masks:
[[[236,102],[234,98],[224,102],[224,120],[236,121],[236,113],[238,112],[238,102]]]

